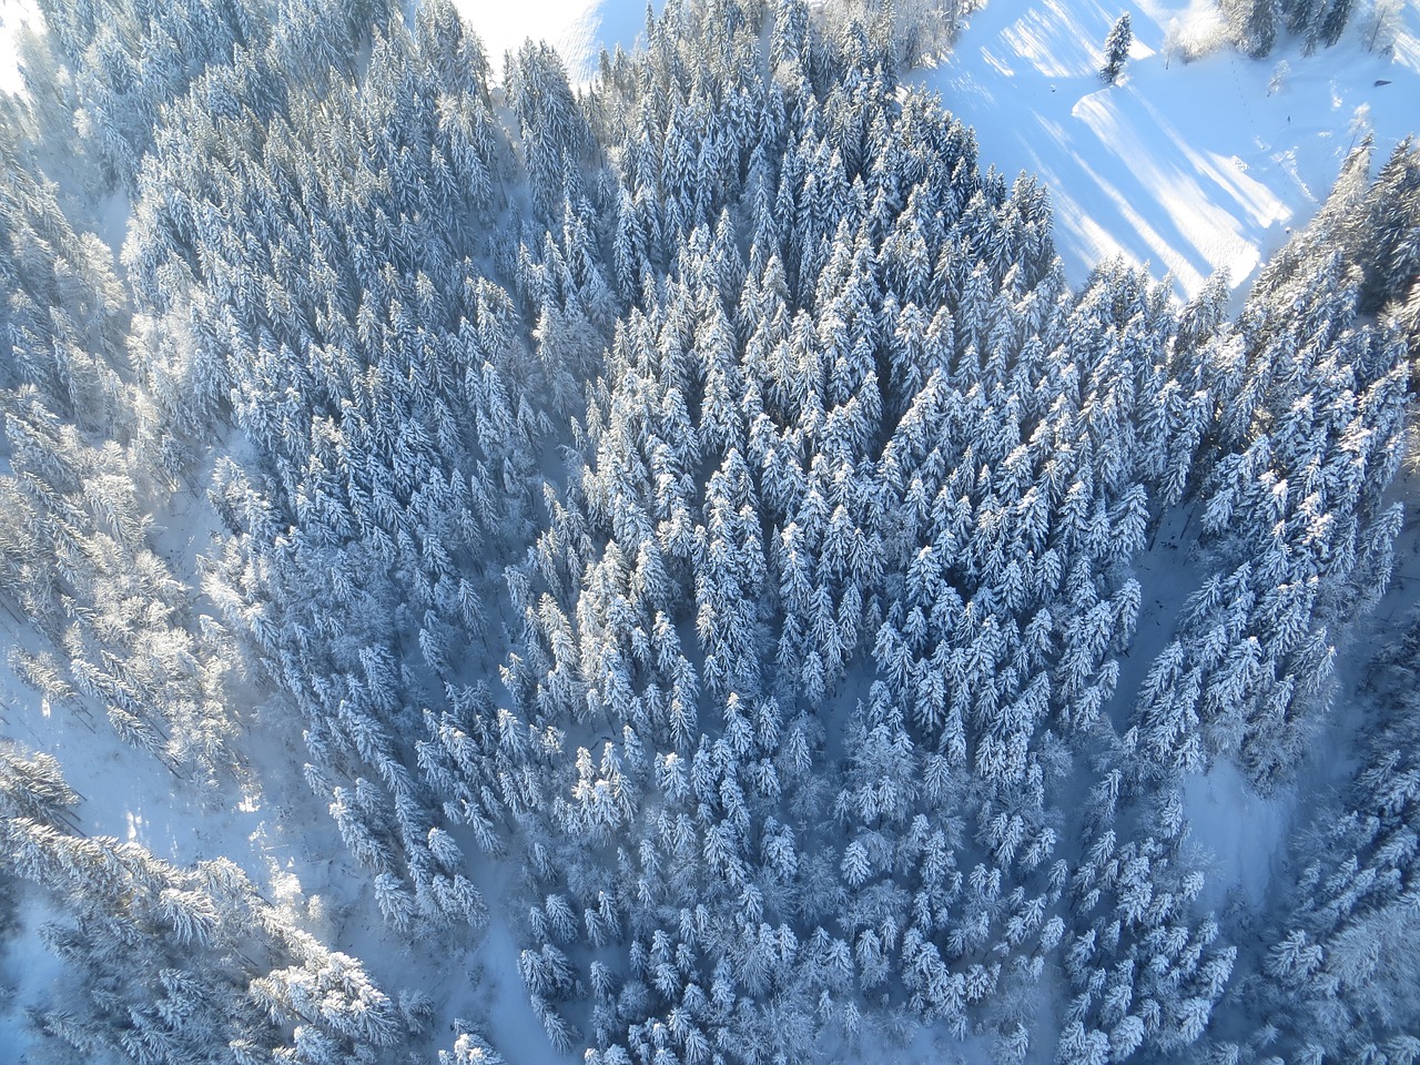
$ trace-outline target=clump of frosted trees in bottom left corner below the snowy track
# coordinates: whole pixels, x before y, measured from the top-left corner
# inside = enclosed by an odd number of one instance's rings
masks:
[[[71,794],[53,760],[6,764],[37,781],[31,791]],[[318,1042],[351,1059],[400,1034],[364,967],[291,926],[227,859],[185,869],[13,809],[0,843],[3,872],[31,880],[58,914],[41,940],[58,957],[67,1005],[36,1011],[34,1022],[74,1051],[178,1065],[214,1045],[270,1058]]]

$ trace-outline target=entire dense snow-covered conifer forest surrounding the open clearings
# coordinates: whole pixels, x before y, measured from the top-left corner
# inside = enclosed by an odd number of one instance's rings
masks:
[[[1049,192],[900,81],[954,6],[669,0],[581,88],[447,0],[40,6],[0,94],[11,666],[209,802],[304,743],[396,939],[511,929],[545,1042],[450,1032],[234,861],[87,836],[7,734],[36,1061],[1420,1059],[1420,616],[1355,642],[1414,143],[1180,304],[1066,284]],[[1287,882],[1207,905],[1189,775],[1328,757]]]

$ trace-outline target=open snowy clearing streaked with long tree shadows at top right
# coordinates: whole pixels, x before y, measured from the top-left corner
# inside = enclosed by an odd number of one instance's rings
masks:
[[[1125,11],[1135,43],[1106,87],[1102,44]],[[1218,268],[1247,283],[1326,196],[1358,128],[1380,153],[1416,132],[1420,3],[1400,18],[1393,60],[1365,50],[1358,18],[1311,57],[1284,36],[1265,60],[1223,45],[1184,62],[1164,43],[1206,38],[1211,0],[990,0],[916,80],[976,128],[983,166],[1049,183],[1071,281],[1122,254],[1187,295]]]

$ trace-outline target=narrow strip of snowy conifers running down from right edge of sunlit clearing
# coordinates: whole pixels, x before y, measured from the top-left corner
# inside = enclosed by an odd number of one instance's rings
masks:
[[[1198,507],[1213,572],[1136,710],[1145,747],[1184,768],[1228,754],[1260,784],[1285,777],[1308,710],[1329,697],[1338,635],[1389,579],[1410,368],[1384,308],[1413,274],[1396,270],[1377,204],[1416,203],[1420,156],[1399,145],[1373,185],[1367,163],[1358,149],[1210,368],[1217,435]]]

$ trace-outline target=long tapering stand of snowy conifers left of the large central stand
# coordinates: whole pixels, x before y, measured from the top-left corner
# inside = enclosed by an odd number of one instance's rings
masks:
[[[206,588],[301,710],[307,780],[396,924],[481,924],[447,828],[501,849],[500,804],[450,787],[436,751],[477,731],[462,663],[497,639],[500,564],[578,366],[484,273],[513,258],[523,186],[477,40],[449,4],[365,33],[358,70],[315,77],[277,45],[209,70],[138,178],[125,261],[173,352],[145,371],[175,435],[216,416],[251,447],[219,463],[234,535]],[[527,142],[561,146],[552,58],[525,50],[510,97],[542,124]]]

